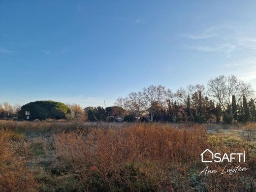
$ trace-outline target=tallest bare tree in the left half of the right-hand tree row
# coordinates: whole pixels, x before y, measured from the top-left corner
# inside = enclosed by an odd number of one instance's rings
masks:
[[[157,106],[163,105],[166,98],[166,90],[164,86],[149,86],[143,88],[143,98],[146,109],[150,113],[150,121],[153,122]]]

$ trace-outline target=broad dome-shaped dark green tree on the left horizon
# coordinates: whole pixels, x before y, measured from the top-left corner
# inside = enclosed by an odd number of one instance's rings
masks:
[[[23,105],[18,112],[19,119],[27,119],[26,111],[30,111],[30,120],[64,119],[67,114],[71,113],[64,103],[51,100],[35,101]]]

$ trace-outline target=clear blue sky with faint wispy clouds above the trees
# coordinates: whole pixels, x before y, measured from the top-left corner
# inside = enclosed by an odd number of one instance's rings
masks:
[[[236,75],[256,89],[256,1],[0,0],[0,103],[112,106]]]

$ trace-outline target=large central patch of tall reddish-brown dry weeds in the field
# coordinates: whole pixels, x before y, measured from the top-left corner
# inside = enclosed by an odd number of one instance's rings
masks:
[[[160,190],[167,183],[166,190],[172,191],[171,178],[164,173],[166,165],[198,159],[206,147],[207,134],[198,125],[137,124],[86,133],[72,131],[54,138],[57,153],[72,164],[89,191]]]

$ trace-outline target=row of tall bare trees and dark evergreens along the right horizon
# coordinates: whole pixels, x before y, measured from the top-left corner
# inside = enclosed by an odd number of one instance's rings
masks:
[[[134,118],[148,116],[150,121],[256,121],[255,99],[249,83],[235,76],[221,75],[211,78],[207,87],[206,90],[204,85],[189,85],[173,93],[164,86],[151,85],[127,97],[119,97],[115,105]]]

